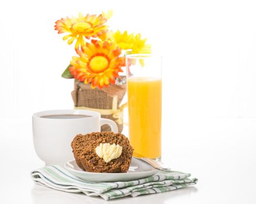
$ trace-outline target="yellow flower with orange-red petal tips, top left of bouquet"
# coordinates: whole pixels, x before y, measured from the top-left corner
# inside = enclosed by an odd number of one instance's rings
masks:
[[[59,34],[68,33],[63,37],[63,40],[68,40],[68,44],[72,44],[74,40],[77,40],[75,50],[78,50],[79,46],[85,44],[85,38],[89,39],[106,33],[108,26],[105,23],[107,20],[102,15],[87,14],[83,16],[82,13],[79,13],[78,17],[57,20],[54,27]]]

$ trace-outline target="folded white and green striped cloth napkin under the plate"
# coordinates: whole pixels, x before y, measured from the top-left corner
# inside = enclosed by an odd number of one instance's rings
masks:
[[[94,183],[75,177],[61,166],[45,166],[31,173],[32,180],[37,184],[59,191],[101,196],[106,201],[128,195],[135,197],[157,194],[195,185],[198,180],[189,178],[190,176],[191,174],[179,171],[160,171],[151,177],[135,181]]]

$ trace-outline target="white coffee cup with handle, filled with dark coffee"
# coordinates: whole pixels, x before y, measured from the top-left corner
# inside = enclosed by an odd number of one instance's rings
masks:
[[[49,115],[88,115],[84,118],[52,119]],[[87,110],[50,110],[36,112],[32,116],[33,141],[37,156],[46,165],[63,164],[74,159],[71,142],[79,133],[100,132],[101,125],[108,124],[113,132],[117,125],[110,119],[101,118],[101,114]]]

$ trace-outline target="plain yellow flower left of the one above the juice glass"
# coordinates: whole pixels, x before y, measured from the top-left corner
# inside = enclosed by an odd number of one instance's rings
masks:
[[[127,31],[124,31],[123,34],[117,30],[116,33],[113,33],[112,40],[118,44],[118,46],[123,50],[129,50],[133,48],[134,36],[133,34],[128,34]]]

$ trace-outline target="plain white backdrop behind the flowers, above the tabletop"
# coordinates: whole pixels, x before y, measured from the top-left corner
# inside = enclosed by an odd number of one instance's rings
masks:
[[[165,57],[168,116],[254,117],[255,8],[254,1],[1,1],[1,117],[72,107],[73,82],[60,75],[74,45],[54,23],[108,9],[113,30],[140,32]]]

